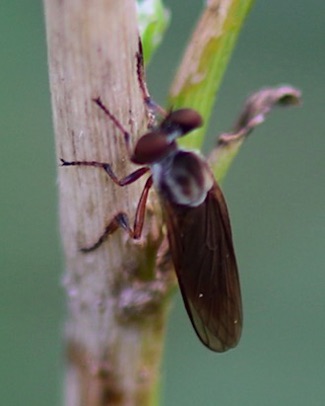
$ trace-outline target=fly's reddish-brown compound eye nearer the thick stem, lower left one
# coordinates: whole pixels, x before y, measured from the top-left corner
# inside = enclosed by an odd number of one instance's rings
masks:
[[[175,142],[170,142],[164,132],[152,131],[138,140],[131,161],[138,165],[152,164],[175,148]]]

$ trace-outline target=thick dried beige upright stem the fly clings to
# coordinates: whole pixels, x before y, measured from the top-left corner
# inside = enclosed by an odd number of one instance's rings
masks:
[[[101,97],[131,134],[146,127],[134,1],[44,4],[57,162],[110,162],[123,177],[134,169],[123,136],[92,98]],[[144,406],[156,389],[165,311],[158,306],[139,320],[122,317],[128,278],[146,261],[144,242],[117,232],[96,251],[79,251],[96,241],[116,212],[132,220],[139,198],[141,182],[118,188],[102,172],[58,168],[68,296],[66,405]]]

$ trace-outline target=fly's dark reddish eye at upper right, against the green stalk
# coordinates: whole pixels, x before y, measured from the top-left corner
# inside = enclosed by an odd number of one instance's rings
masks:
[[[172,111],[162,121],[160,127],[166,133],[179,131],[179,136],[201,127],[203,120],[201,115],[192,109],[179,109]]]

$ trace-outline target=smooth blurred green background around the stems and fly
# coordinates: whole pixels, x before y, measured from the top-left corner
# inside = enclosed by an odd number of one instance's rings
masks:
[[[149,69],[161,103],[203,2],[166,3],[171,27]],[[224,184],[244,301],[240,345],[206,350],[178,296],[164,406],[324,405],[324,15],[322,0],[257,0],[245,24],[210,139],[261,86],[291,83],[304,102],[272,114]],[[0,402],[60,405],[63,258],[41,2],[1,0],[0,27]]]

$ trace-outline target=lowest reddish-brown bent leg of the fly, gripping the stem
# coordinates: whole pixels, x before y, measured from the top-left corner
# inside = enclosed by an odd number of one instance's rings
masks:
[[[120,212],[116,216],[114,216],[113,219],[108,223],[108,225],[105,227],[103,234],[99,237],[99,239],[95,242],[95,244],[91,245],[90,247],[81,248],[81,251],[85,252],[85,253],[94,251],[104,241],[106,241],[107,238],[111,234],[113,234],[118,228],[122,228],[123,230],[125,230],[129,234],[129,236],[133,239],[140,238],[142,229],[143,229],[147,198],[148,198],[149,190],[152,186],[152,183],[153,183],[152,176],[150,176],[144,185],[144,188],[142,190],[142,193],[141,193],[141,196],[139,199],[139,203],[137,206],[137,211],[136,211],[135,219],[134,219],[133,230],[130,227],[129,218],[128,218],[127,214]]]

